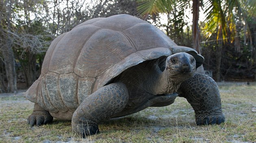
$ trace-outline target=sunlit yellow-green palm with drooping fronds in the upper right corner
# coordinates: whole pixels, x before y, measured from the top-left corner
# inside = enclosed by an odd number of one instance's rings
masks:
[[[240,53],[240,38],[236,27],[237,21],[244,23],[243,31],[249,39],[249,50],[253,55],[252,37],[249,31],[247,23],[248,16],[255,17],[255,0],[210,0],[205,3],[206,6],[206,25],[204,26],[204,32],[207,33],[207,37],[210,37],[214,32],[217,32],[216,39],[216,79],[221,80],[221,52],[222,46],[229,39],[230,42],[234,42],[237,53]],[[227,38],[228,31],[230,32],[230,38]]]

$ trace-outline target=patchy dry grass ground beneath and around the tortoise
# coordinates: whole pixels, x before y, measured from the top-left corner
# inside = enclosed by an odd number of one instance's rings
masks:
[[[256,83],[219,86],[226,122],[196,126],[186,99],[178,97],[167,107],[150,107],[139,113],[99,124],[100,134],[81,139],[71,122],[30,128],[26,124],[33,103],[21,95],[0,95],[0,143],[17,142],[256,142]]]

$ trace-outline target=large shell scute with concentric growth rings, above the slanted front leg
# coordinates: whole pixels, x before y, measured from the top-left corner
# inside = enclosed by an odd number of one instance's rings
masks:
[[[82,48],[74,72],[80,77],[98,77],[134,52],[136,49],[122,32],[100,29]]]

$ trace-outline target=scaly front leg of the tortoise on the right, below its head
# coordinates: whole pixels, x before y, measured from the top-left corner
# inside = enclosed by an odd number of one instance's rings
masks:
[[[200,124],[220,124],[225,121],[221,98],[216,82],[209,76],[195,74],[184,81],[178,90],[195,110],[195,121]]]

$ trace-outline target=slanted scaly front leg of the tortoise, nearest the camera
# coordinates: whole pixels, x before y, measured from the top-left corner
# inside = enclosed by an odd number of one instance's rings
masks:
[[[78,106],[72,117],[73,130],[83,138],[98,133],[97,122],[122,111],[128,98],[126,85],[121,82],[103,86]]]

